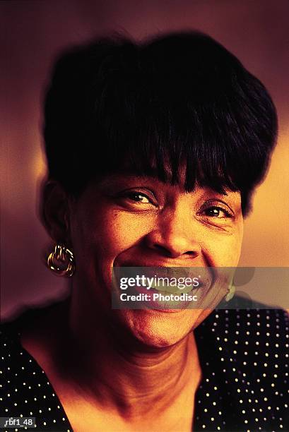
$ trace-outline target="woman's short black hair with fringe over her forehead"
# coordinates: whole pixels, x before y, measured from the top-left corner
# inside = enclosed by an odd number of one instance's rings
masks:
[[[124,169],[185,189],[240,191],[250,207],[276,143],[276,108],[264,85],[201,32],[144,42],[106,37],[69,49],[45,99],[49,178],[77,196]]]

